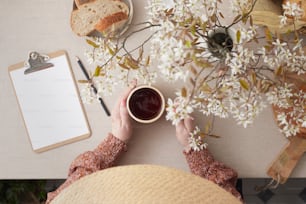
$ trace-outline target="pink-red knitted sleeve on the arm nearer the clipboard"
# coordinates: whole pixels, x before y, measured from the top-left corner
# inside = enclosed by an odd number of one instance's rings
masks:
[[[50,203],[64,188],[83,176],[113,166],[118,156],[125,150],[126,144],[109,133],[95,150],[79,155],[71,163],[68,178],[58,189],[48,193],[46,204]]]

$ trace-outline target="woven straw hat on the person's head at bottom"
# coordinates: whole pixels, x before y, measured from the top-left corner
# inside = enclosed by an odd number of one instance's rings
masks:
[[[180,170],[130,165],[88,175],[64,189],[52,204],[238,204],[240,201],[218,185]]]

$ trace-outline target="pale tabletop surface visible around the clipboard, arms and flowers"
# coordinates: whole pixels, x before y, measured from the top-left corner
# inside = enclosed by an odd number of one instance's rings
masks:
[[[146,1],[133,0],[133,22],[144,19]],[[85,61],[88,48],[83,38],[70,29],[72,0],[1,0],[0,2],[0,179],[65,178],[71,161],[80,153],[95,148],[111,130],[110,118],[99,104],[85,105],[92,136],[44,153],[32,151],[22,116],[19,112],[8,66],[25,60],[29,51],[49,53],[64,49],[68,52],[74,74],[84,79],[77,63],[77,55]],[[156,84],[166,97],[173,90],[164,82]],[[122,90],[104,97],[108,107]],[[204,118],[196,115],[198,123]],[[244,129],[232,120],[217,120],[215,134],[222,138],[209,138],[209,149],[216,159],[235,168],[239,177],[268,177],[266,170],[288,142],[273,121],[267,108],[255,123]],[[128,151],[119,164],[159,164],[188,171],[182,147],[175,138],[174,127],[165,119],[150,125],[135,124],[135,134]],[[292,177],[306,177],[306,156],[295,168]]]

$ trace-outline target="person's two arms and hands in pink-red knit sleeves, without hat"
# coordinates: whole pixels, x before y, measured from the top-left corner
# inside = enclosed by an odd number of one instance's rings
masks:
[[[49,192],[46,204],[49,204],[60,192],[76,180],[115,165],[116,160],[126,152],[128,141],[132,137],[132,121],[126,108],[126,99],[136,87],[133,83],[115,104],[112,116],[112,131],[92,151],[79,155],[70,165],[68,178],[55,191]],[[193,174],[210,180],[230,192],[242,202],[241,194],[236,190],[237,172],[225,164],[216,161],[208,149],[194,151],[188,143],[189,133],[195,128],[193,118],[181,120],[176,126],[176,138],[183,146],[183,154]]]

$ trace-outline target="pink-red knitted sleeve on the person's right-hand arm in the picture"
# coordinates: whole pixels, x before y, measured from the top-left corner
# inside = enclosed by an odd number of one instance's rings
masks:
[[[184,154],[192,173],[218,184],[242,201],[240,193],[235,188],[238,177],[236,171],[216,161],[207,149],[184,151]]]

